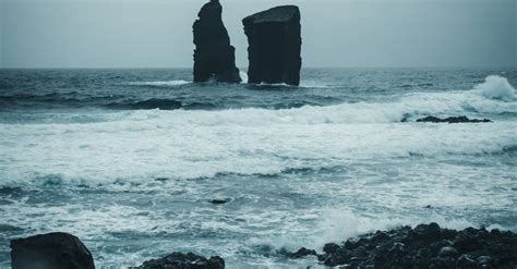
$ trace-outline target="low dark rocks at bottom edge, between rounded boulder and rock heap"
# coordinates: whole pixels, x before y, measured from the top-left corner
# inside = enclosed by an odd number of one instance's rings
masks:
[[[160,259],[145,261],[136,269],[225,269],[225,260],[219,256],[206,259],[192,253],[171,253]]]

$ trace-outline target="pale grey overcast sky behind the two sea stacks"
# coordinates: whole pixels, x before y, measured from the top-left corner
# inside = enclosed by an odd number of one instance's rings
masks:
[[[191,68],[207,0],[0,0],[0,68]],[[306,68],[517,66],[517,0],[220,0],[248,66],[241,20],[302,14]]]

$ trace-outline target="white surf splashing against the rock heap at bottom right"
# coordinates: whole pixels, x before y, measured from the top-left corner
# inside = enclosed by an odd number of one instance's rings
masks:
[[[424,210],[424,209],[423,209]],[[469,227],[479,227],[464,218],[446,217],[435,211],[429,211],[424,216],[417,215],[388,215],[388,213],[369,213],[357,212],[348,207],[340,208],[324,208],[313,210],[315,212],[314,221],[316,224],[311,228],[300,225],[298,221],[291,221],[289,228],[284,228],[285,233],[279,234],[279,231],[272,231],[272,235],[263,235],[251,237],[247,241],[247,245],[252,247],[267,246],[270,252],[287,249],[296,252],[301,246],[323,250],[326,243],[341,243],[349,239],[354,239],[359,235],[374,233],[378,230],[388,231],[409,225],[411,228],[422,223],[436,222],[441,228],[464,230]],[[513,230],[515,227],[502,227],[494,224],[488,228],[500,229],[503,231]],[[308,234],[300,236],[300,234]]]

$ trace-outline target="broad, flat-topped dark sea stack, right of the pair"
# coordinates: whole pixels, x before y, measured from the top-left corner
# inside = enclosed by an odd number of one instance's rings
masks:
[[[301,26],[296,5],[276,7],[242,20],[248,36],[248,83],[300,85]]]

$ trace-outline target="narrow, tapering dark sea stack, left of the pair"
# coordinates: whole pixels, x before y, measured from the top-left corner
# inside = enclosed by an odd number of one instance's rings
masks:
[[[194,22],[194,82],[240,83],[236,48],[223,24],[219,0],[203,5]]]

